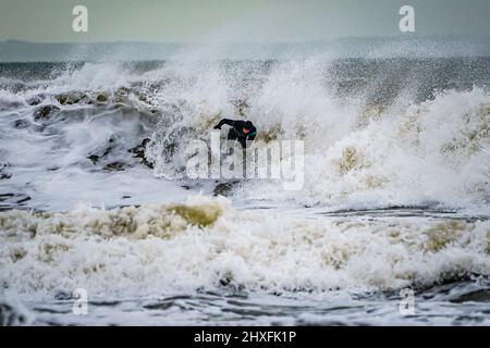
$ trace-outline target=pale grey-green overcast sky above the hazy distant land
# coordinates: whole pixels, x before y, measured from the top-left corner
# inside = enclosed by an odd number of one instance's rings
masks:
[[[88,33],[72,9],[88,8]],[[490,0],[0,0],[0,40],[309,41],[392,36],[415,8],[418,35],[490,35]]]

